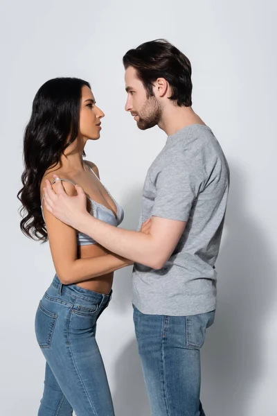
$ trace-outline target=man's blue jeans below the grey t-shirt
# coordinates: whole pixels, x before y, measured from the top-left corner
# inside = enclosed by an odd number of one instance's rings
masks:
[[[205,416],[200,401],[200,348],[215,311],[191,316],[146,315],[134,324],[152,416]]]

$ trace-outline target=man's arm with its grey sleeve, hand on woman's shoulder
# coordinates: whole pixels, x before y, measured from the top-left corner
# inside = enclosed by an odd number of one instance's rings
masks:
[[[168,155],[168,163],[153,177],[155,196],[149,234],[112,227],[91,217],[85,209],[84,191],[78,186],[75,187],[78,196],[70,198],[62,184],[57,184],[56,195],[48,182],[47,209],[109,251],[151,268],[162,268],[184,232],[193,202],[205,180],[202,153],[198,148],[189,153],[182,146]],[[174,163],[170,162],[173,157]]]

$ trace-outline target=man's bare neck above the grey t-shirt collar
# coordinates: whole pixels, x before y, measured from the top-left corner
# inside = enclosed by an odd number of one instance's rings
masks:
[[[181,130],[181,128],[192,124],[205,125],[204,121],[197,116],[192,107],[169,105],[167,108],[164,108],[158,125],[168,136],[171,136]]]

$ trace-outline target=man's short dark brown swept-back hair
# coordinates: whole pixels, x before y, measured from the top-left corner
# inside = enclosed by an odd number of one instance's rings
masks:
[[[125,69],[134,67],[146,92],[153,96],[153,83],[157,78],[165,78],[171,89],[170,100],[177,105],[190,107],[193,83],[190,61],[176,46],[165,39],[152,40],[129,49],[123,56]]]

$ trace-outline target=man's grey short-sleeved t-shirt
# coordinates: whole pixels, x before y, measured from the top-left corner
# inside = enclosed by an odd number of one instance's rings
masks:
[[[145,179],[139,228],[151,216],[187,224],[163,268],[134,264],[139,311],[178,316],[215,309],[215,261],[228,190],[229,167],[208,126],[189,125],[168,137]]]

